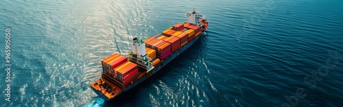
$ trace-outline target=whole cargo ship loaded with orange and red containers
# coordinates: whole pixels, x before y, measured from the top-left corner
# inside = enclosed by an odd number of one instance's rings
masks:
[[[101,60],[102,76],[91,84],[99,97],[109,101],[143,82],[187,50],[205,32],[209,23],[193,8],[187,21],[176,23],[145,40],[132,38],[127,56],[113,53]]]

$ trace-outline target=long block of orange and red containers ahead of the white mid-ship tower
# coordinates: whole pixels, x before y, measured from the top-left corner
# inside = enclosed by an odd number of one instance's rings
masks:
[[[156,66],[161,60],[170,56],[171,53],[177,51],[201,33],[200,26],[190,23],[177,23],[163,31],[162,34],[145,40],[147,57],[151,58],[154,66]]]

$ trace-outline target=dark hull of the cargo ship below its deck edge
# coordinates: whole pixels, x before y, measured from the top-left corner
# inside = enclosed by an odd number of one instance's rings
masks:
[[[174,60],[175,58],[177,58],[181,53],[183,53],[184,51],[186,51],[189,47],[191,47],[194,43],[196,43],[196,41],[198,40],[198,38],[200,38],[200,36],[202,36],[204,32],[202,32],[198,37],[194,38],[194,40],[191,40],[189,43],[187,43],[187,45],[184,45],[182,48],[180,48],[178,51],[176,51],[175,53],[173,53],[171,56],[169,56],[168,58],[166,58],[165,60],[163,60],[163,62],[161,62],[161,64],[159,64],[157,67],[154,67],[154,69],[152,69],[151,71],[149,71],[146,75],[143,75],[141,78],[139,78],[138,80],[135,80],[132,84],[129,84],[128,86],[126,86],[126,88],[123,89],[123,91],[119,92],[115,97],[121,95],[122,93],[125,93],[126,91],[130,90],[131,88],[133,88],[134,86],[137,86],[138,84],[140,84],[141,82],[143,82],[144,80],[146,80],[147,78],[150,78],[154,73],[156,73],[157,71],[160,71],[163,67],[165,67],[165,65],[167,65],[169,62],[171,62],[172,60]],[[110,101],[110,99],[108,97],[106,97],[105,95],[103,95],[102,93],[100,93],[99,91],[97,91],[95,88],[93,88],[93,91],[95,93],[97,93],[97,95],[99,95],[99,97],[101,97],[102,99],[106,100],[106,101]],[[113,99],[113,98],[112,98]]]

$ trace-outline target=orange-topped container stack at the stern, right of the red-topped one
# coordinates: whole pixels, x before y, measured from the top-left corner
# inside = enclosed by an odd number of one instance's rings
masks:
[[[122,82],[124,86],[138,78],[138,65],[133,62],[126,61],[114,70],[115,73],[117,73],[118,80]]]

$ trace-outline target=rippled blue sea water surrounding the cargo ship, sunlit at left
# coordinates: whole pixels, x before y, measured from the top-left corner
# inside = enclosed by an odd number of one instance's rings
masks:
[[[110,102],[93,93],[102,58],[128,53],[133,37],[182,23],[193,8],[209,28],[191,48]],[[0,32],[0,106],[343,105],[338,0],[3,0]]]

